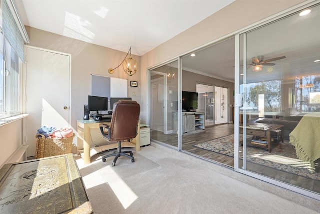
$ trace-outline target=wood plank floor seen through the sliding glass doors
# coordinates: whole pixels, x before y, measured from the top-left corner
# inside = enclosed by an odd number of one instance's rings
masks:
[[[182,135],[182,150],[233,168],[233,157],[229,157],[227,155],[219,154],[212,151],[207,151],[193,146],[197,143],[233,134],[233,129],[233,124],[221,124],[211,127],[205,127],[205,132],[195,133],[191,135]],[[151,140],[159,141],[177,147],[177,134],[163,134],[163,132],[150,130],[150,137]],[[239,163],[239,165],[241,165],[241,163]],[[250,171],[254,173],[265,175],[275,180],[279,180],[316,193],[320,193],[319,180],[305,178],[250,162],[247,162],[247,169],[250,169]]]

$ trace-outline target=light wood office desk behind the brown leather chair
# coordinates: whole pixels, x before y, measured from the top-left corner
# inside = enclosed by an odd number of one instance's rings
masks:
[[[97,146],[91,148],[90,129],[99,128],[100,123],[110,125],[110,122],[95,121],[95,120],[76,120],[77,129],[77,149],[81,157],[84,160],[84,164],[91,162],[91,157],[99,152],[114,149],[117,147],[117,143]],[[121,147],[133,147],[135,151],[140,151],[140,122],[138,122],[138,130],[135,140],[131,142],[121,142]]]

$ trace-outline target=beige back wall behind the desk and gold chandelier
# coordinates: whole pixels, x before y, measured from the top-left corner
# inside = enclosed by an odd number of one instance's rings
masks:
[[[76,120],[83,118],[83,105],[87,104],[87,96],[91,91],[91,74],[116,77],[128,80],[128,96],[134,92],[132,100],[140,102],[140,72],[129,77],[122,66],[108,73],[109,68],[115,68],[124,59],[126,53],[92,45],[68,37],[52,34],[39,29],[25,26],[30,39],[28,45],[49,49],[71,55],[71,126],[76,129]],[[129,49],[129,47],[128,47]],[[140,57],[132,55],[140,64]],[[130,81],[137,81],[138,87],[130,87]]]

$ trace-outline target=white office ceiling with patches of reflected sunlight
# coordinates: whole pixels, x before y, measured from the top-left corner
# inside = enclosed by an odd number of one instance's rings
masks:
[[[26,26],[142,56],[235,0],[15,0]]]

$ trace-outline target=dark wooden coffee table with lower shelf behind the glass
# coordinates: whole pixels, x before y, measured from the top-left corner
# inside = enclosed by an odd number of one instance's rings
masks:
[[[271,152],[271,133],[273,130],[276,129],[282,129],[283,125],[279,124],[266,124],[266,123],[249,123],[245,127],[246,129],[246,134],[250,134],[253,136],[258,136],[258,137],[266,137],[267,139],[267,146],[268,146],[268,152]],[[239,126],[239,132],[243,134],[243,126]],[[249,145],[252,145],[249,143]],[[255,146],[255,145],[254,145]],[[260,146],[257,146],[260,147]],[[262,147],[262,146],[261,146]]]

